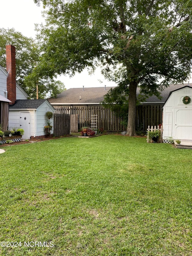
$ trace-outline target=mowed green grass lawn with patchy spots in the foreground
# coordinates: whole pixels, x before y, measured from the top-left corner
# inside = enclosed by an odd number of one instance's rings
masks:
[[[0,255],[192,255],[192,150],[117,135],[4,149],[0,240],[18,246]]]

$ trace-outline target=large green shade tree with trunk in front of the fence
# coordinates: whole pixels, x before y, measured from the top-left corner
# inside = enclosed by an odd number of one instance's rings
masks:
[[[41,28],[44,70],[73,75],[101,66],[104,76],[119,86],[116,92],[129,95],[130,136],[135,134],[137,86],[146,95],[159,96],[164,86],[182,83],[190,75],[189,0],[34,2],[43,2],[46,10],[46,26]]]

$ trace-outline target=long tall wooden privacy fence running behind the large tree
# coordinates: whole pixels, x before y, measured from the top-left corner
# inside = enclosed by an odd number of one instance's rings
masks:
[[[139,105],[136,108],[136,129],[146,131],[148,125],[162,123],[162,104]],[[127,127],[122,125],[122,117],[118,113],[104,108],[102,105],[87,107],[55,107],[55,113],[78,116],[78,128],[91,125],[91,116],[98,116],[98,128],[103,127],[106,131],[125,131]],[[76,118],[76,117],[74,117]],[[73,124],[73,127],[75,125]],[[77,127],[75,128],[77,129]],[[75,131],[75,130],[74,130]]]

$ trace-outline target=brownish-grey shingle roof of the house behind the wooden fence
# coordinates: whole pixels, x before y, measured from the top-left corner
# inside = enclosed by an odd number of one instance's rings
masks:
[[[161,92],[162,99],[158,99],[156,96],[151,96],[146,99],[146,102],[162,102],[162,104],[166,101],[169,93],[173,90],[182,88],[183,86],[187,86],[188,84],[170,84],[169,87],[165,88],[164,91]],[[192,86],[192,83],[189,84]],[[100,103],[104,100],[104,95],[111,89],[115,87],[85,87],[83,88],[70,88],[61,94],[57,95],[57,98],[49,98],[48,101],[51,104],[82,104],[82,103]],[[139,88],[137,88],[137,95],[139,95]],[[81,99],[80,99],[81,98]]]

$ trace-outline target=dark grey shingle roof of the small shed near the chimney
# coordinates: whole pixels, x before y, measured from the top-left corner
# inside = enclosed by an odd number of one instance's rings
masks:
[[[16,100],[16,103],[10,106],[9,109],[37,109],[44,101],[46,100]]]

